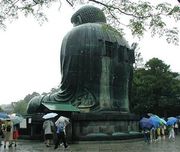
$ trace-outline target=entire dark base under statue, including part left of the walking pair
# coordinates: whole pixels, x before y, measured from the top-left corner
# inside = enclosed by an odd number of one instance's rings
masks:
[[[56,112],[66,116],[70,124],[66,128],[69,143],[78,141],[105,141],[141,138],[139,116],[121,112]],[[20,129],[22,139],[44,140],[44,113],[26,116],[26,128]],[[56,121],[56,118],[52,119]]]

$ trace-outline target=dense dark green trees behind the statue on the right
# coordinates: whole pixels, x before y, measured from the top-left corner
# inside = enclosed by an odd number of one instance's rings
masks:
[[[131,110],[138,114],[156,113],[167,116],[180,109],[180,81],[170,66],[153,58],[134,72]]]

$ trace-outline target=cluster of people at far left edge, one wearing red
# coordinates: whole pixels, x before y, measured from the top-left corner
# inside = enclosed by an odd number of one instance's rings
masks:
[[[19,137],[19,129],[18,124],[14,125],[11,119],[1,120],[0,121],[0,132],[1,137],[4,139],[4,148],[8,143],[8,147],[17,146],[17,139]],[[2,142],[0,142],[0,146],[2,146]]]

